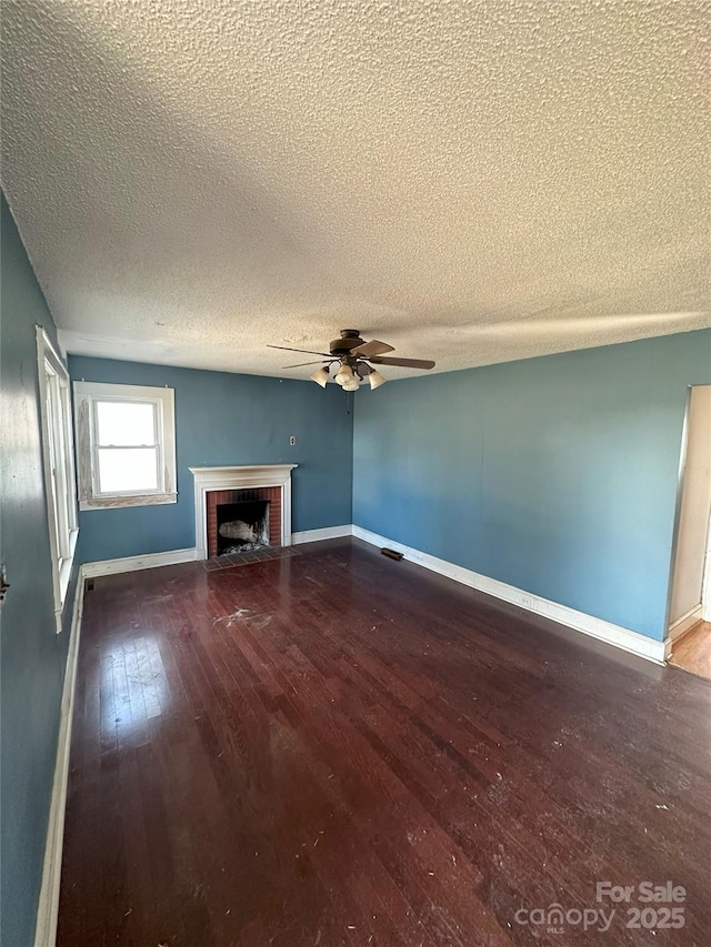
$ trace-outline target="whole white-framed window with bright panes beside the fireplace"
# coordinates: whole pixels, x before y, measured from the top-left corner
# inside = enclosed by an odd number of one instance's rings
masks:
[[[173,395],[74,382],[81,510],[176,502]]]

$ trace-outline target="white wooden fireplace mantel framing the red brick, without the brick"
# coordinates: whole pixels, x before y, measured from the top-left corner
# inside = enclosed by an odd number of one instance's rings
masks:
[[[291,545],[291,471],[298,464],[241,467],[190,467],[196,481],[196,547],[198,560],[208,557],[208,504],[211,490],[281,487],[281,544]]]

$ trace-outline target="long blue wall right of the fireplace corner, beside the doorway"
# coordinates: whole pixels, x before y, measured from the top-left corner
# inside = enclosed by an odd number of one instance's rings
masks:
[[[353,522],[661,639],[711,330],[358,393]]]

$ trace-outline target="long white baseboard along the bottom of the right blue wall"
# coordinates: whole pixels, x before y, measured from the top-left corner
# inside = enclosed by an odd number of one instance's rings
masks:
[[[577,612],[567,605],[559,605],[557,602],[550,602],[548,598],[541,598],[539,595],[533,595],[530,592],[523,592],[521,588],[507,585],[507,583],[499,582],[497,578],[480,575],[478,572],[472,572],[469,568],[454,565],[445,560],[437,558],[437,556],[431,556],[428,553],[420,552],[420,550],[413,550],[410,546],[402,545],[402,543],[395,543],[385,536],[379,536],[377,533],[371,533],[370,530],[363,530],[362,526],[353,526],[353,536],[364,540],[374,546],[388,546],[391,550],[395,550],[395,552],[402,553],[411,562],[424,566],[424,568],[429,568],[440,575],[445,575],[455,582],[461,582],[462,585],[469,585],[471,588],[485,592],[495,598],[510,602],[520,608],[544,615],[553,622],[558,622],[577,632],[582,632],[584,635],[590,635],[599,641],[607,642],[639,657],[645,657],[648,661],[653,661],[657,664],[664,663],[664,642],[649,638],[647,635],[640,635],[638,632],[631,632],[629,628],[622,628],[620,625],[613,625],[611,622],[595,618],[593,615],[587,615],[584,612]]]

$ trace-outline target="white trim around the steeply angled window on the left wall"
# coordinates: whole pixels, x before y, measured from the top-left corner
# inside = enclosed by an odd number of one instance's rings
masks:
[[[57,633],[62,629],[62,614],[64,611],[64,602],[67,601],[67,590],[71,580],[71,570],[74,561],[74,552],[77,550],[77,538],[79,536],[79,523],[77,517],[77,477],[74,472],[74,442],[71,423],[71,406],[70,406],[70,381],[69,373],[64,367],[59,353],[52,345],[51,340],[44,332],[41,325],[36,326],[37,336],[37,367],[38,367],[38,384],[39,384],[39,402],[40,402],[40,427],[42,436],[42,467],[44,473],[44,496],[47,507],[47,524],[49,527],[49,544],[50,555],[52,560],[52,594],[54,598],[54,622]],[[68,497],[67,514],[69,522],[66,524],[69,534],[68,548],[66,555],[61,557],[57,541],[56,522],[60,511],[54,506],[54,491],[52,488],[52,460],[50,444],[52,441],[52,432],[50,431],[50,420],[47,411],[47,367],[53,373],[57,383],[66,393],[60,397],[62,437],[64,442],[63,467],[60,471],[60,480]]]

